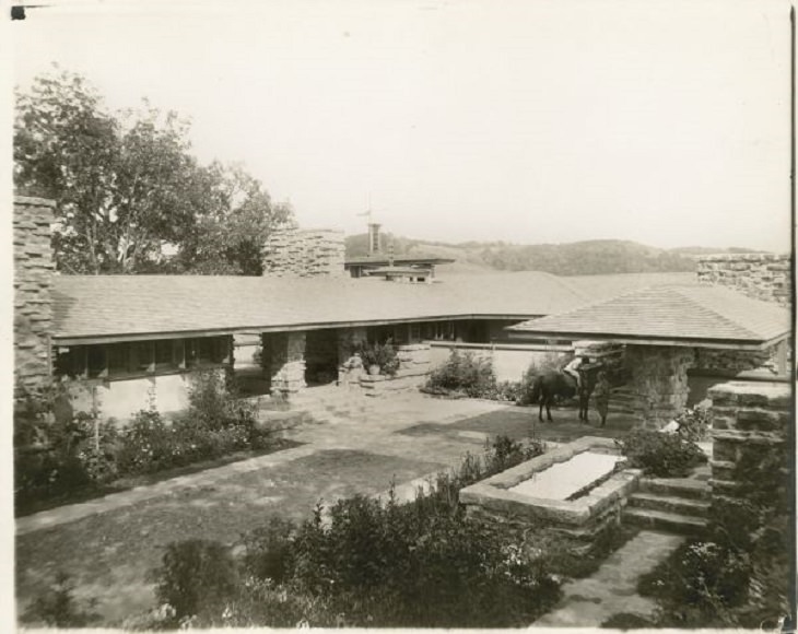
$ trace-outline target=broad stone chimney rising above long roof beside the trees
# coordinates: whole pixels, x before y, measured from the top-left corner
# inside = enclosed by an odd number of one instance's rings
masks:
[[[343,232],[333,230],[283,230],[266,244],[265,275],[344,277]]]

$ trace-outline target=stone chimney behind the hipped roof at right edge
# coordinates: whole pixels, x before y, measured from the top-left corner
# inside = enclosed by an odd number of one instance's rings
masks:
[[[723,254],[699,258],[699,283],[720,284],[754,300],[789,306],[790,256]]]

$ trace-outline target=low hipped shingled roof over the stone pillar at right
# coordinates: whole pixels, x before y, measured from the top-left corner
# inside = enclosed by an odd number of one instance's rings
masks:
[[[661,285],[513,326],[516,338],[763,348],[790,332],[789,312],[723,286]]]

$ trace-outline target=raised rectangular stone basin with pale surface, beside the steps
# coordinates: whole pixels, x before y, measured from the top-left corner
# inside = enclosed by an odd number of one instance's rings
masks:
[[[636,488],[611,438],[584,436],[460,491],[470,515],[501,516],[594,533],[620,517]]]

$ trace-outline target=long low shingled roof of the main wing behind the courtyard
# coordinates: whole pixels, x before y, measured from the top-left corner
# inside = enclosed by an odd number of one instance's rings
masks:
[[[352,278],[57,275],[54,338],[331,328],[402,320],[560,313],[588,297],[550,273],[463,277],[435,284]]]

